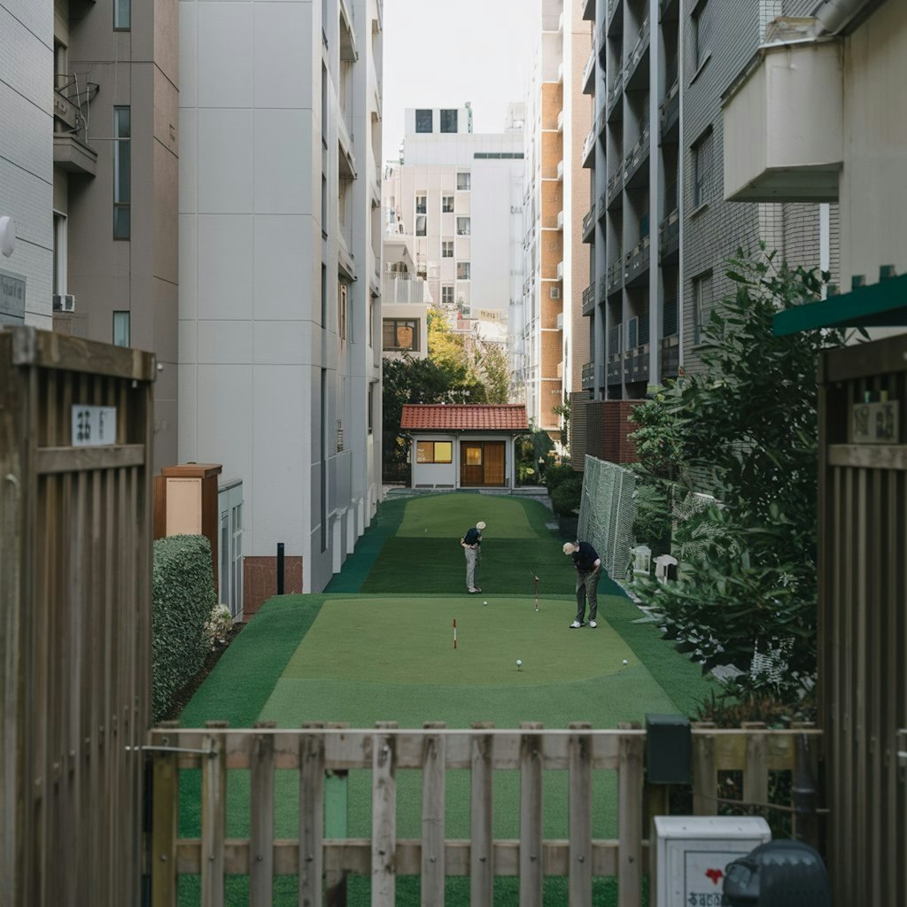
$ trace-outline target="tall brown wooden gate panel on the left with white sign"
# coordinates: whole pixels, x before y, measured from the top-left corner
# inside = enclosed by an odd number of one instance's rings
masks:
[[[154,372],[0,331],[3,904],[140,902]]]

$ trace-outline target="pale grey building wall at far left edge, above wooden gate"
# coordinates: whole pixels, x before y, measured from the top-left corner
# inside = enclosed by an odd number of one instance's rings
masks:
[[[51,327],[54,33],[48,13],[27,0],[0,3],[0,327]]]

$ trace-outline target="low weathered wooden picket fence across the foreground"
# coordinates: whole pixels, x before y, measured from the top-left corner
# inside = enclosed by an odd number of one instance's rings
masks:
[[[720,785],[724,772],[742,773],[752,802],[768,804],[771,772],[794,773],[803,741],[816,742],[813,728],[791,731],[747,727],[693,731],[697,813],[715,814],[727,805]],[[223,902],[225,875],[249,876],[249,903],[269,907],[273,877],[297,875],[299,903],[321,904],[325,887],[345,873],[371,876],[372,904],[394,904],[397,874],[421,876],[422,902],[444,903],[446,876],[469,876],[470,903],[493,903],[495,876],[518,876],[521,907],[541,905],[546,876],[566,876],[571,904],[590,904],[592,879],[616,876],[620,907],[639,907],[642,878],[648,871],[646,822],[668,812],[664,788],[646,790],[643,756],[645,731],[632,728],[591,730],[571,725],[545,730],[475,725],[469,730],[427,725],[402,730],[382,723],[374,730],[348,727],[273,726],[231,730],[212,722],[204,729],[158,727],[151,731],[153,758],[151,892],[154,907],[174,907],[178,877],[199,875],[202,907]],[[815,756],[815,746],[809,758]],[[804,766],[800,766],[801,768]],[[180,770],[201,770],[200,837],[180,838]],[[298,831],[289,839],[274,837],[275,771],[299,775]],[[327,839],[326,775],[366,769],[371,772],[370,838]],[[396,776],[401,769],[422,772],[422,837],[399,840],[396,834]],[[470,837],[445,839],[445,773],[466,769],[470,780]],[[227,775],[249,772],[249,836],[226,838]],[[514,840],[495,840],[493,773],[519,773],[519,831]],[[542,836],[542,776],[566,770],[568,836]],[[593,839],[592,777],[595,771],[617,774],[616,839]],[[791,805],[780,805],[782,810]],[[744,811],[759,812],[746,807]],[[648,815],[647,815],[648,813]],[[327,881],[326,881],[327,880]],[[337,903],[336,891],[332,902]]]

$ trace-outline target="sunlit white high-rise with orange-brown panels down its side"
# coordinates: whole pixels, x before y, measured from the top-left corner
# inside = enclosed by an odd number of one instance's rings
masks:
[[[514,352],[532,424],[561,439],[556,407],[579,390],[589,358],[582,290],[589,249],[582,218],[589,174],[582,169],[590,109],[583,97],[590,29],[570,0],[541,0],[541,36],[527,103],[523,280]]]

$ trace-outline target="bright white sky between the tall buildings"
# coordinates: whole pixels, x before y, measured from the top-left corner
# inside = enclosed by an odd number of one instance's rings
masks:
[[[385,0],[382,157],[396,156],[407,107],[473,102],[473,132],[502,132],[522,101],[539,0]]]

